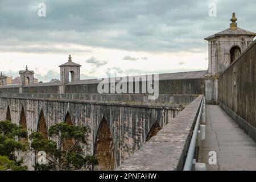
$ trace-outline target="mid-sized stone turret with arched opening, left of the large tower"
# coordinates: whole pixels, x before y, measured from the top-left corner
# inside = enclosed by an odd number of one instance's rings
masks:
[[[65,93],[64,85],[80,80],[80,64],[72,62],[71,55],[68,57],[68,62],[59,65],[60,67],[60,93]]]

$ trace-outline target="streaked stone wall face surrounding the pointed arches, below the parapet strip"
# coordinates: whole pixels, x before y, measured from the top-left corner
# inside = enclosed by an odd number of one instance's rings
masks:
[[[109,126],[113,138],[114,167],[118,167],[134,151],[138,150],[146,140],[151,126],[157,121],[161,127],[184,109],[185,105],[150,104],[144,102],[111,102],[70,100],[68,98],[36,98],[31,94],[0,94],[0,120],[6,119],[7,106],[10,107],[11,121],[19,125],[22,107],[26,116],[28,134],[38,130],[40,112],[43,111],[47,129],[49,126],[63,122],[67,112],[74,125],[88,126],[88,146],[85,154],[93,154],[96,146],[97,132],[103,118]],[[22,97],[23,96],[23,97]],[[32,155],[31,155],[32,156]],[[32,156],[28,162],[34,163]]]

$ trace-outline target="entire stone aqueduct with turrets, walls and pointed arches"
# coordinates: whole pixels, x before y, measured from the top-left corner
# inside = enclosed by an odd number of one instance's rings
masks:
[[[84,154],[96,155],[101,170],[183,169],[203,96],[207,104],[216,105],[206,107],[207,123],[212,127],[208,131],[215,127],[215,135],[224,129],[228,132],[234,128],[228,122],[234,121],[256,140],[256,41],[253,40],[256,34],[238,28],[234,16],[230,28],[205,38],[209,43],[208,71],[160,74],[156,100],[148,100],[149,94],[134,92],[99,94],[100,81],[80,80],[81,65],[74,63],[69,55],[68,62],[59,66],[60,82],[32,84],[34,71],[26,67],[19,72],[20,85],[6,85],[7,77],[1,73],[0,120],[21,125],[28,134],[40,131],[46,138],[49,127],[56,123],[87,126],[88,145],[83,147]],[[72,73],[71,82],[69,73]],[[138,77],[137,81],[131,79],[132,85],[156,86],[144,83],[140,78],[143,76]],[[117,84],[108,85],[109,90]],[[139,88],[142,91],[141,86]],[[218,112],[217,115],[213,111]],[[214,120],[213,116],[211,121],[210,115],[219,117],[218,114],[225,118],[220,118],[223,123],[214,123],[218,119]],[[223,134],[216,137],[221,138]],[[243,138],[240,142],[247,144],[249,139]],[[236,143],[236,139],[232,141]],[[69,142],[72,141],[66,144]],[[220,156],[223,156],[221,147],[226,146],[226,141],[223,142],[217,148]],[[250,140],[249,145],[254,151],[255,143]],[[238,158],[244,154],[251,153],[234,155]],[[30,169],[35,164],[33,155],[27,162]],[[202,156],[201,160],[207,160],[206,153]],[[218,162],[226,158],[220,157]]]

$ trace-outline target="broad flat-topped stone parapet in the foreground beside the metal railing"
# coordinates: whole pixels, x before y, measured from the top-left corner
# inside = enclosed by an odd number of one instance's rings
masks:
[[[117,170],[182,170],[202,99],[200,95],[185,107]]]

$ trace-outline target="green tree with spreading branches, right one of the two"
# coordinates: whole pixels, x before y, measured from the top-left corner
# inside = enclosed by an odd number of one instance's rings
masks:
[[[30,135],[31,148],[36,153],[46,152],[46,164],[36,163],[35,170],[88,170],[98,164],[94,156],[82,152],[81,144],[87,144],[87,127],[62,122],[49,127],[48,134],[55,140],[44,138],[39,132]]]

